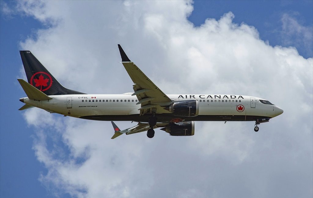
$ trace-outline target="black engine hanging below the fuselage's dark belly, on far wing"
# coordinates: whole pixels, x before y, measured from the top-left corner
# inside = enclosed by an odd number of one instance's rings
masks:
[[[172,136],[192,136],[195,134],[195,122],[170,123],[161,130]]]

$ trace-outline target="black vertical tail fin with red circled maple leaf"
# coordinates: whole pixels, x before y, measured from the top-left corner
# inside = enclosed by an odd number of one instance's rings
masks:
[[[63,87],[30,51],[20,51],[28,83],[46,95],[84,94]]]

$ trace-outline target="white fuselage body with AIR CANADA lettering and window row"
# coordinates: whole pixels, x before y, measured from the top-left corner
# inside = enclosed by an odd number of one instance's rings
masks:
[[[272,104],[263,104],[259,101],[261,98],[252,96],[228,94],[168,94],[167,96],[173,101],[199,101],[198,116],[188,117],[186,120],[249,121],[262,117],[273,118],[282,113],[279,107]],[[141,105],[136,104],[138,99],[136,96],[132,96],[131,93],[53,95],[51,97],[53,99],[44,101],[23,98],[23,102],[51,113],[59,113],[76,118],[140,121],[136,119],[139,117],[138,109]],[[175,118],[185,120],[184,118],[186,118],[175,116],[172,113],[162,114],[167,115],[167,118],[164,118],[167,121]],[[162,121],[165,122],[166,120]]]

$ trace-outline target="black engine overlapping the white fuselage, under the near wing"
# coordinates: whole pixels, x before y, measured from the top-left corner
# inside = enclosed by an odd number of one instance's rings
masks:
[[[166,109],[177,116],[194,117],[199,114],[199,101],[198,100],[175,101]]]

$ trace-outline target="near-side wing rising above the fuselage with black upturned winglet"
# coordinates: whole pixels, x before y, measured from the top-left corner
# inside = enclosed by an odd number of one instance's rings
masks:
[[[118,47],[121,53],[122,64],[135,84],[133,85],[135,93],[132,95],[136,95],[138,98],[137,104],[141,104],[141,108],[138,109],[140,110],[140,115],[151,113],[152,111],[156,113],[170,113],[162,106],[169,105],[172,100],[129,60],[121,45],[118,44]]]

